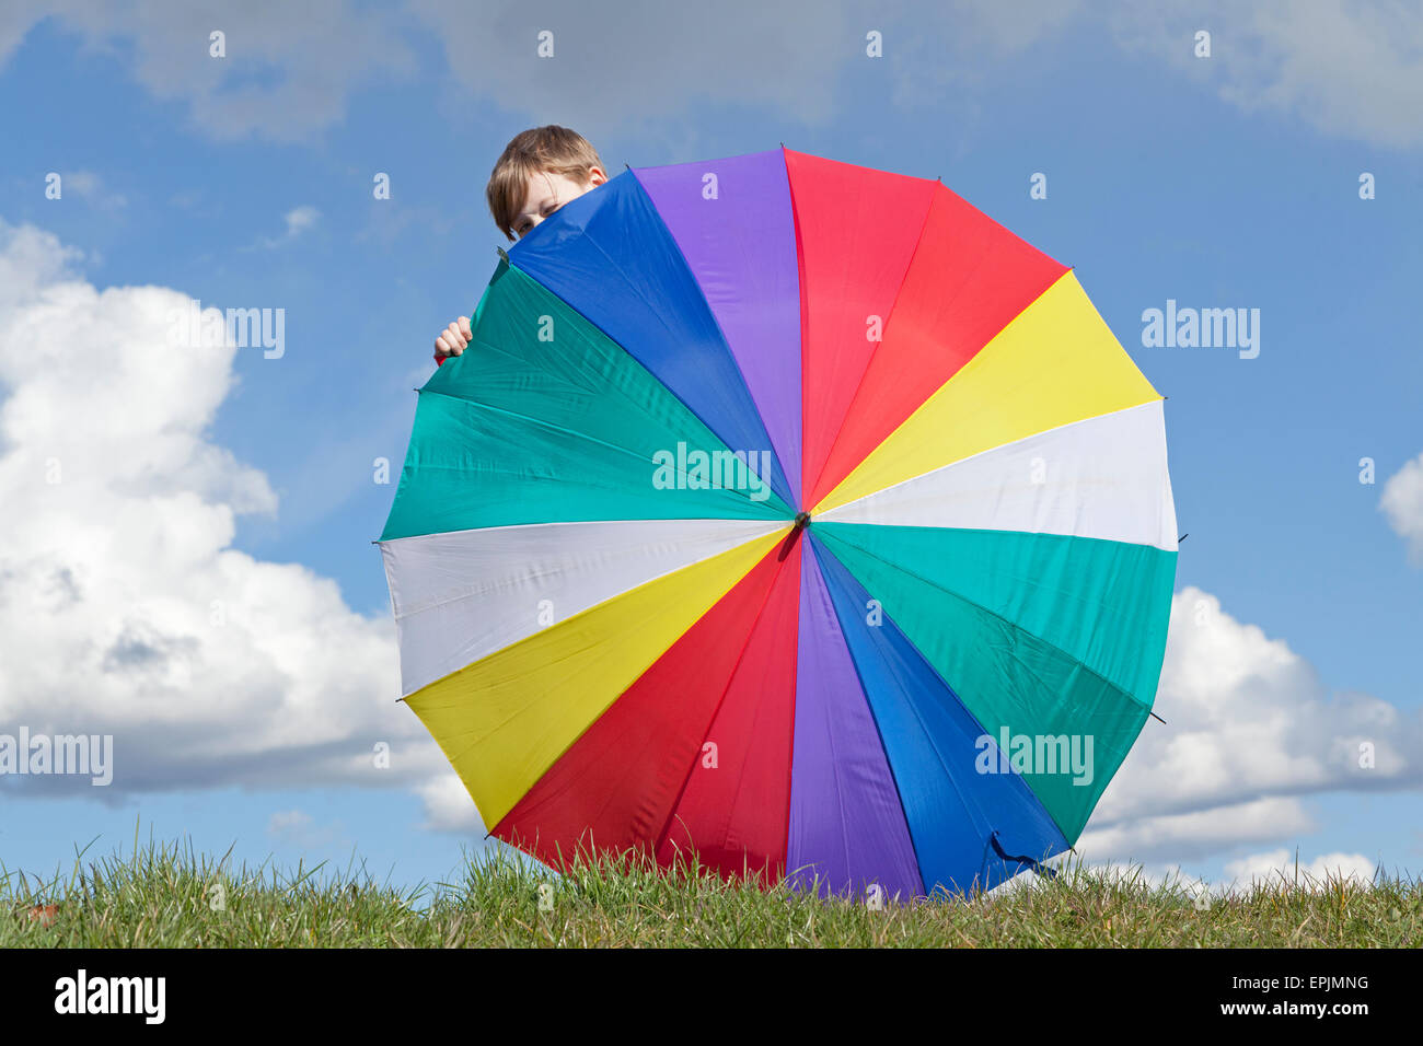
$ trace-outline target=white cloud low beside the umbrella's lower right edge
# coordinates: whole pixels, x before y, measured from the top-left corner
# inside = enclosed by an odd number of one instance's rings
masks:
[[[1171,603],[1155,710],[1167,723],[1147,722],[1081,837],[1093,860],[1284,841],[1313,828],[1305,796],[1423,786],[1423,713],[1331,696],[1284,640],[1194,586]]]

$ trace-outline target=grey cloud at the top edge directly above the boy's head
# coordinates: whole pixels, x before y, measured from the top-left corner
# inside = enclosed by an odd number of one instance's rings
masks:
[[[595,144],[647,134],[652,121],[676,137],[662,121],[707,102],[825,125],[838,74],[862,54],[868,28],[851,20],[847,4],[822,0],[411,0],[410,9],[444,40],[450,71],[475,95],[519,114],[525,125],[564,124]],[[545,30],[554,34],[551,58],[536,53]],[[694,130],[683,135],[692,139]]]

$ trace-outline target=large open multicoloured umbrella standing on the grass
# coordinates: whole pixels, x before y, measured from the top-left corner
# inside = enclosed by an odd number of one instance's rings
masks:
[[[1163,397],[1070,269],[783,148],[571,201],[471,326],[380,546],[492,835],[905,897],[1077,840],[1177,534]]]

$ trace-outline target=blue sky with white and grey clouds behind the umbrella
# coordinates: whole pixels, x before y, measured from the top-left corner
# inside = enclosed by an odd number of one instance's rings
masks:
[[[1423,871],[1423,13],[1140,7],[4,4],[0,733],[111,734],[114,773],[0,777],[0,874],[135,833],[404,887],[481,851],[371,542],[505,245],[490,169],[549,122],[609,174],[784,144],[939,176],[1074,266],[1168,397],[1190,535],[1165,722],[1079,855]],[[282,337],[174,344],[192,299]],[[1168,302],[1258,343],[1147,344]]]

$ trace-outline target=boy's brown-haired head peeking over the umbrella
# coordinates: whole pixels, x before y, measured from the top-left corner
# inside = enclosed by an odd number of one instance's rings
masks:
[[[589,141],[549,124],[514,135],[494,165],[484,195],[494,223],[512,241],[606,181],[603,161]]]

